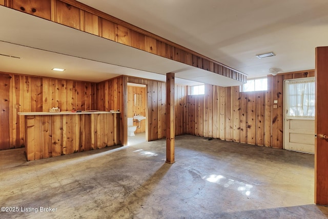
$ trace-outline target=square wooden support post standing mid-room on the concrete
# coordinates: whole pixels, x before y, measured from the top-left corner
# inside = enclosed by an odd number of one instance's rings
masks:
[[[174,73],[166,74],[166,163],[174,161]]]

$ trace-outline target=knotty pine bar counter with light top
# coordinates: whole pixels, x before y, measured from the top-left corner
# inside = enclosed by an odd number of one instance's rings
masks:
[[[28,161],[119,145],[119,112],[19,112]]]

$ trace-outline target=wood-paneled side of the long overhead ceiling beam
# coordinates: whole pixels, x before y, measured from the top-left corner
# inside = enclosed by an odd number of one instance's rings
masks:
[[[246,81],[246,76],[235,69],[75,0],[2,1],[2,5],[18,11],[33,14],[58,24],[92,33],[237,81]]]

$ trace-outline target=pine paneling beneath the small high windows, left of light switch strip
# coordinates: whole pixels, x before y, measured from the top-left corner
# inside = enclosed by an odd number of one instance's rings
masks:
[[[264,91],[206,85],[206,94],[187,97],[187,133],[263,145],[264,128],[258,126],[265,123],[264,97]]]

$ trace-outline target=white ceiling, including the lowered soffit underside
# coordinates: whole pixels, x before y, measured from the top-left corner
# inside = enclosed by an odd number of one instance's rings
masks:
[[[326,0],[80,0],[248,74],[314,69],[315,47],[327,46]],[[127,7],[127,5],[129,7]],[[275,57],[258,59],[271,52]],[[99,82],[121,74],[220,86],[227,77],[0,6],[0,71]],[[53,67],[65,68],[56,73]]]

